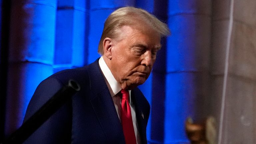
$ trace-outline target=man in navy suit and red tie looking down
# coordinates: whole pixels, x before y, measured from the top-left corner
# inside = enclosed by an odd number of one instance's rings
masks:
[[[145,10],[119,8],[107,18],[94,63],[53,74],[37,87],[24,121],[69,79],[81,90],[25,143],[147,143],[150,106],[137,88],[148,78],[166,24]]]

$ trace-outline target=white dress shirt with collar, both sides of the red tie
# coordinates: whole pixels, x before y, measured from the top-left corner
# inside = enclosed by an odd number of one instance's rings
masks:
[[[121,86],[119,85],[119,83],[116,81],[116,79],[114,78],[113,74],[111,73],[110,69],[108,68],[106,62],[104,61],[103,57],[100,57],[99,59],[99,65],[100,65],[100,69],[102,74],[104,75],[104,79],[105,82],[108,86],[109,92],[111,94],[111,97],[113,99],[113,102],[115,104],[115,108],[116,108],[116,112],[118,114],[119,120],[121,121],[121,100],[122,98],[120,96],[117,95],[118,92],[120,92],[120,90],[122,89]],[[134,132],[135,132],[135,137],[136,137],[136,141],[137,144],[140,144],[140,135],[138,133],[138,122],[136,120],[136,113],[135,113],[135,106],[131,101],[131,90],[129,90],[129,104],[131,106],[131,113],[132,113],[132,121],[133,121],[133,128],[134,128]]]

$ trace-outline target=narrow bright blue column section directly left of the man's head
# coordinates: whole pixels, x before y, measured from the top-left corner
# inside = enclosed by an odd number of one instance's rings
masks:
[[[58,1],[54,72],[87,63],[87,3],[84,0]]]

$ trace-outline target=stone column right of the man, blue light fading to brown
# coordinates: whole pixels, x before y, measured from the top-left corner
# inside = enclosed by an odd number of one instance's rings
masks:
[[[207,116],[210,0],[169,1],[164,143],[186,143],[185,120]]]

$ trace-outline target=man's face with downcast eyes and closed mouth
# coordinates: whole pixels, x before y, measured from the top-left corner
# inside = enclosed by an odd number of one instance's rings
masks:
[[[122,89],[143,84],[152,70],[160,49],[160,36],[146,26],[123,26],[113,39],[110,70]]]

